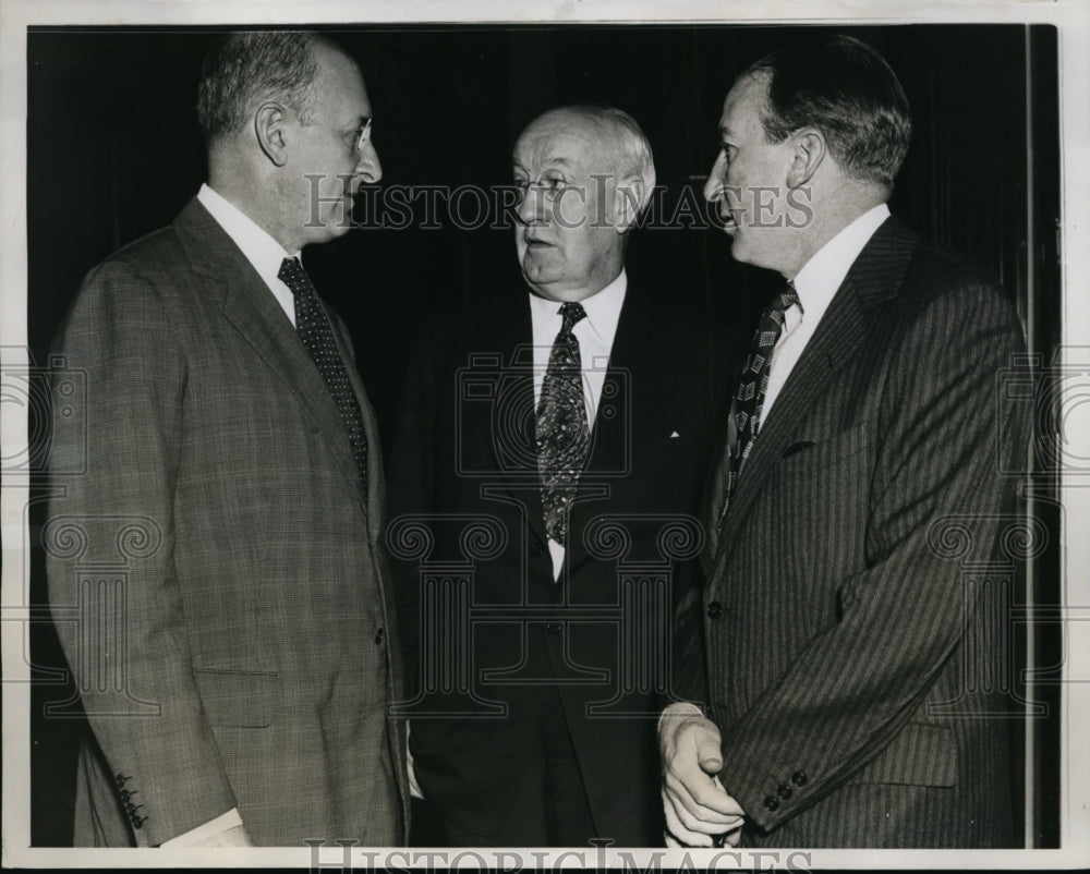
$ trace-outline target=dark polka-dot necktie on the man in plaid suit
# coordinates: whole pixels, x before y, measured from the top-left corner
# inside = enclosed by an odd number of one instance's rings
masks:
[[[291,293],[295,296],[295,329],[337,403],[341,420],[348,429],[349,441],[352,444],[352,454],[360,471],[360,484],[366,493],[367,437],[363,433],[363,415],[360,413],[360,402],[344,369],[344,362],[341,361],[340,352],[337,350],[329,317],[318,301],[314,283],[311,282],[303,265],[299,263],[299,258],[284,258],[277,278],[291,289]]]

